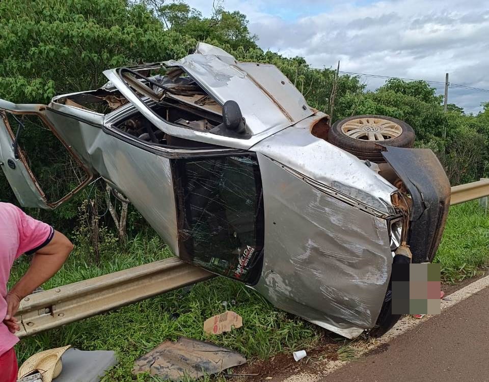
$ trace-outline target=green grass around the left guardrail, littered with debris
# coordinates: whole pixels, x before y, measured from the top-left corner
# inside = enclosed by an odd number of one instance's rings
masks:
[[[146,243],[146,244],[143,244]],[[77,249],[63,269],[44,287],[67,284],[171,256],[158,238],[129,243],[126,253],[104,253],[100,266]],[[11,283],[28,267],[20,260]],[[205,336],[204,320],[233,310],[243,327],[220,336]],[[19,363],[35,352],[71,344],[83,350],[115,350],[119,364],[104,381],[154,381],[149,375],[131,375],[135,359],[167,339],[191,337],[233,348],[247,358],[266,359],[289,349],[308,348],[323,331],[304,320],[275,309],[254,290],[226,278],[215,278],[166,293],[117,311],[74,322],[62,328],[23,339],[16,347]]]

